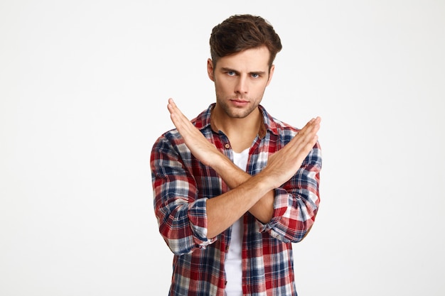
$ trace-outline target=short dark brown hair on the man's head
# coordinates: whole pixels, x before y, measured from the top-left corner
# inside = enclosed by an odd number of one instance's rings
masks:
[[[269,68],[282,42],[272,25],[261,16],[234,15],[215,26],[210,35],[210,55],[213,66],[220,57],[240,53],[243,50],[266,46],[269,49]]]

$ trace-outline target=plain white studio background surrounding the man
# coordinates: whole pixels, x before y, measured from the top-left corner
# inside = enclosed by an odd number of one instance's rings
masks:
[[[322,117],[299,295],[444,295],[445,2],[0,1],[0,295],[167,295],[149,157],[215,101],[234,13],[282,38],[263,106]]]

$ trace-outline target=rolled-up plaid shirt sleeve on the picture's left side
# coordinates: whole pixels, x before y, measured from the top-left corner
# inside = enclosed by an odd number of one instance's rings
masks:
[[[184,143],[164,136],[151,150],[154,212],[161,236],[176,255],[216,240],[207,239],[207,198],[198,198],[195,178],[185,164],[190,158]]]

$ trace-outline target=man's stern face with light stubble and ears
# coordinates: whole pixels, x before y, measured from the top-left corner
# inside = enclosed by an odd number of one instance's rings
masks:
[[[274,66],[269,72],[269,50],[264,46],[221,57],[215,69],[208,60],[208,75],[215,82],[216,109],[230,118],[242,119],[262,100]]]

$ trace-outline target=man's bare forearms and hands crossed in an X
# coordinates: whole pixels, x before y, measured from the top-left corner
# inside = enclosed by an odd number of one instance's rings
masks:
[[[311,119],[284,148],[269,157],[262,172],[251,176],[220,153],[181,113],[173,99],[168,100],[168,111],[195,158],[213,168],[231,189],[206,203],[209,238],[223,232],[247,211],[263,223],[272,218],[274,189],[299,170],[316,144],[321,121],[319,117]]]

